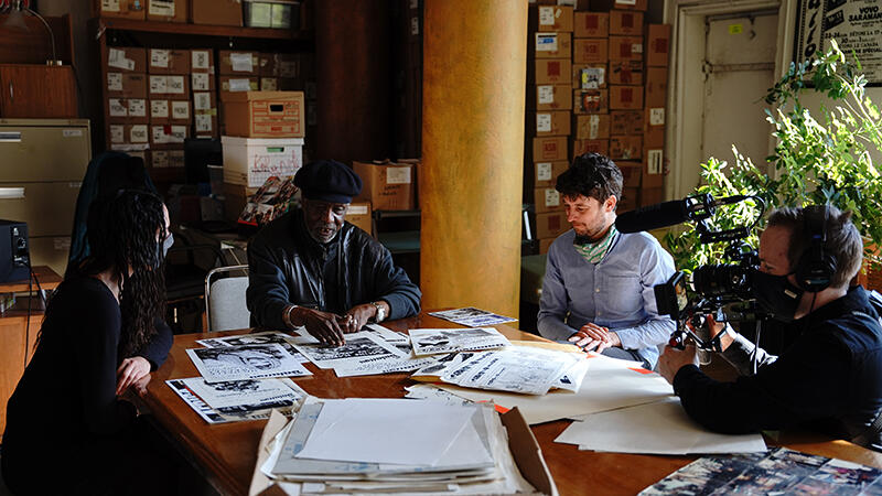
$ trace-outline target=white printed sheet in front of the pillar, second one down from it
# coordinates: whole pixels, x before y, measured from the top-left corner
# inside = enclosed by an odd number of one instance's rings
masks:
[[[411,328],[408,333],[417,356],[502,348],[512,344],[493,327]]]

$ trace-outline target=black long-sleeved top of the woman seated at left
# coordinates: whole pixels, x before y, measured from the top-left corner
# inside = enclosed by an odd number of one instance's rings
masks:
[[[104,282],[89,277],[62,282],[46,309],[40,344],[7,406],[3,459],[49,445],[76,451],[133,420],[131,405],[116,397],[120,330],[119,304]],[[162,331],[151,339],[142,354],[151,367],[165,359],[171,339]]]

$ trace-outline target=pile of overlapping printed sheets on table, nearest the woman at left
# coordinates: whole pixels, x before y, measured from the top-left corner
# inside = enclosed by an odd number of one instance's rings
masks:
[[[273,409],[290,414],[308,396],[291,379],[206,382],[191,377],[165,384],[208,423],[262,420]]]

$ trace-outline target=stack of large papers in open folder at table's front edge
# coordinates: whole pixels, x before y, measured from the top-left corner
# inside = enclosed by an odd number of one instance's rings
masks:
[[[310,397],[269,450],[261,472],[301,494],[536,492],[486,405]]]

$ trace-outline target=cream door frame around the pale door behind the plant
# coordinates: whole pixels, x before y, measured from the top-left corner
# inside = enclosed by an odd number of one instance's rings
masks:
[[[665,195],[682,198],[692,192],[699,177],[701,157],[696,137],[702,133],[703,105],[695,105],[689,95],[702,95],[707,33],[704,19],[708,15],[738,14],[760,10],[778,9],[777,52],[775,54],[775,78],[781,77],[790,63],[796,0],[666,0],[665,23],[671,26],[671,53],[668,74],[668,116],[665,128],[665,144],[668,151],[670,172],[665,182]],[[703,99],[702,99],[703,101]],[[768,151],[774,150],[770,134]]]

